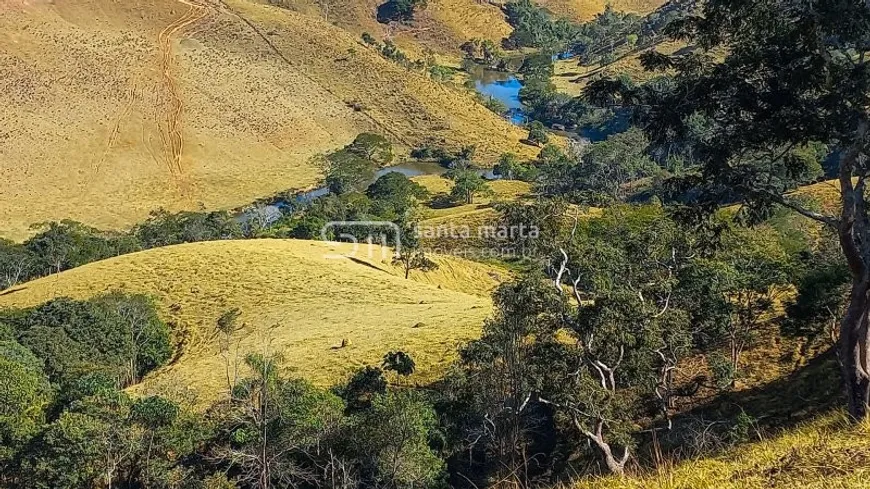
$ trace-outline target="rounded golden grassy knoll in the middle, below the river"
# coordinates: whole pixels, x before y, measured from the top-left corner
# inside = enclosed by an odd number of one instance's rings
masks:
[[[362,250],[358,258],[327,256],[352,250],[349,244],[300,240],[157,248],[10,289],[0,295],[0,308],[111,290],[150,294],[184,347],[173,365],[139,388],[190,390],[206,403],[226,388],[215,326],[231,308],[242,312],[244,327],[233,340],[242,354],[268,347],[320,384],[379,363],[395,349],[409,352],[419,378],[427,379],[455,356],[459,343],[479,334],[491,313],[489,294],[508,278],[497,268],[436,256],[438,270],[412,271],[406,280],[380,248],[372,258]],[[335,348],[342,340],[349,344]]]

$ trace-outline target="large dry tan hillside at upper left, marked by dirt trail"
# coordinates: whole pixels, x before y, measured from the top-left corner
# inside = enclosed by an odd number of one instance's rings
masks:
[[[308,187],[309,158],[364,131],[529,152],[468,94],[316,12],[253,0],[6,4],[0,64],[0,236],[15,239]]]

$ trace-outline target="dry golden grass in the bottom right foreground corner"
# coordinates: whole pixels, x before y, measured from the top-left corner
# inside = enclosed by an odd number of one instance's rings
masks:
[[[870,423],[834,413],[714,458],[641,477],[583,481],[573,489],[864,489],[870,481]]]

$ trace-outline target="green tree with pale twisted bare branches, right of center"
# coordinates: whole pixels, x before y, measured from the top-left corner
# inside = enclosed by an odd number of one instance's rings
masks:
[[[636,396],[654,396],[669,420],[674,373],[697,334],[691,292],[679,281],[695,253],[686,233],[650,206],[611,208],[579,223],[559,254],[554,282],[560,290],[567,283],[576,303],[565,320],[584,375],[556,390],[554,402],[608,469],[621,473],[633,444]]]

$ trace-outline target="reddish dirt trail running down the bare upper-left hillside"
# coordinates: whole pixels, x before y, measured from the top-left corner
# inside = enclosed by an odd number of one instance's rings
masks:
[[[189,7],[187,12],[166,26],[157,36],[157,43],[162,53],[160,71],[163,77],[163,88],[169,94],[169,110],[165,114],[166,120],[158,121],[158,126],[166,164],[170,175],[176,180],[184,175],[184,167],[181,164],[181,154],[184,151],[184,133],[181,127],[184,102],[181,100],[178,84],[172,76],[172,38],[178,32],[208,15],[206,6],[184,0],[181,0],[180,3]]]

